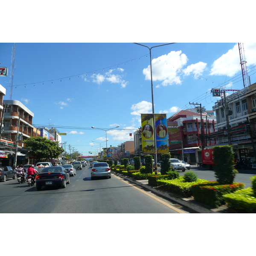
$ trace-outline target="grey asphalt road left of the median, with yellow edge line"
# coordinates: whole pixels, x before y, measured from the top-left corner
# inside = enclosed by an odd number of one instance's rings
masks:
[[[184,210],[183,210],[184,209]],[[112,175],[90,179],[89,166],[77,170],[65,189],[0,182],[0,213],[187,213],[193,212],[134,183]]]

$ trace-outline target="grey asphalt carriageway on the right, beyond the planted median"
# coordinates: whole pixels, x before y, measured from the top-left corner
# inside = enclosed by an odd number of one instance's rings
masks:
[[[191,166],[190,170],[186,170],[185,172],[193,171],[198,175],[198,178],[205,179],[205,180],[216,180],[214,170],[209,170],[207,168],[197,166]],[[183,176],[185,172],[179,172],[180,176]],[[251,180],[250,177],[256,175],[256,170],[238,170],[239,173],[235,176],[235,182],[244,183],[244,187],[251,187]]]

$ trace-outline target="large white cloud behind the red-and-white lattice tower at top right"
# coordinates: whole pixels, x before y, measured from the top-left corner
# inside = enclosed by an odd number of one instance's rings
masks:
[[[256,65],[256,43],[244,43],[244,56],[247,61],[247,67]],[[233,49],[223,54],[215,60],[211,66],[210,75],[232,77],[241,73],[239,47],[236,44]]]

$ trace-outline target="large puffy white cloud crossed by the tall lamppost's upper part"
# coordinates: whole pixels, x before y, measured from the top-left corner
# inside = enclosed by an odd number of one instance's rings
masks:
[[[152,60],[152,79],[161,85],[181,84],[180,73],[188,58],[181,51],[172,51]],[[143,69],[146,80],[151,80],[150,65]],[[157,87],[159,87],[158,85]]]

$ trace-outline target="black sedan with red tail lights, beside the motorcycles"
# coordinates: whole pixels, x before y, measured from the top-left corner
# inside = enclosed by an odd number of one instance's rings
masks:
[[[66,187],[70,183],[70,175],[62,166],[45,167],[36,176],[36,188],[40,190],[42,186],[61,186]]]

